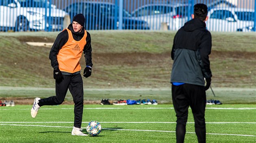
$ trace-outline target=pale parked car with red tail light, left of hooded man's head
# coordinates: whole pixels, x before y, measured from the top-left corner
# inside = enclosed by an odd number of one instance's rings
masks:
[[[188,4],[147,4],[133,11],[132,16],[147,21],[152,30],[161,29],[162,23],[178,30],[188,20],[188,8]]]

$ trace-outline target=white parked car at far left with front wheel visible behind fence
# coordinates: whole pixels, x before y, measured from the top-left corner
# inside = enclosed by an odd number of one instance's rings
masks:
[[[65,15],[47,0],[0,0],[2,30],[61,30]]]

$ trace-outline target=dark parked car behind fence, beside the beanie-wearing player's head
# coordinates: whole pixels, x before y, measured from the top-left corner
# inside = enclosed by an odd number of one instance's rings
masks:
[[[64,11],[70,17],[78,13],[85,15],[85,29],[115,29],[119,28],[119,7],[109,2],[76,2],[67,6]],[[122,29],[149,29],[148,23],[131,17],[130,13],[123,9]]]

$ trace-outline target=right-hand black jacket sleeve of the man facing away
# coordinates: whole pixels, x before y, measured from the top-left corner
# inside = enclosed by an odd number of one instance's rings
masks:
[[[206,34],[204,34],[204,36],[202,36],[201,43],[199,45],[199,53],[200,53],[200,57],[202,59],[202,64],[203,64],[202,71],[205,78],[212,77],[212,72],[210,70],[210,60],[209,60],[211,48],[212,48],[212,36],[210,32],[207,32]]]

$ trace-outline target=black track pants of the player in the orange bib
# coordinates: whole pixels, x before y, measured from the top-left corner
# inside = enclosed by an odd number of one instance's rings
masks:
[[[74,126],[81,128],[82,124],[82,113],[83,113],[83,103],[84,103],[84,91],[81,74],[76,74],[72,76],[63,75],[64,80],[61,83],[55,82],[56,86],[56,96],[40,99],[38,105],[60,105],[63,103],[65,96],[67,94],[67,89],[69,89],[72,94],[74,106]]]

